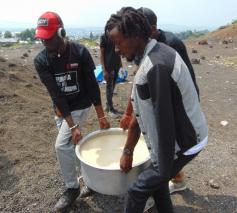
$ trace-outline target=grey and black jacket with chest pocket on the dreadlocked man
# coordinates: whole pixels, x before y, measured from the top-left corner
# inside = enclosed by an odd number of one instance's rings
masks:
[[[174,159],[203,144],[208,134],[190,72],[174,49],[150,40],[131,100],[153,166],[168,178]]]

